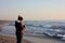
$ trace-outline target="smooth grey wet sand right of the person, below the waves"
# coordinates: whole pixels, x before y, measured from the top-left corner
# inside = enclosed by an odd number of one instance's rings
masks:
[[[65,43],[65,41],[55,39],[55,38],[49,38],[46,35],[39,37],[39,35],[24,35],[24,39],[32,42],[32,43]]]

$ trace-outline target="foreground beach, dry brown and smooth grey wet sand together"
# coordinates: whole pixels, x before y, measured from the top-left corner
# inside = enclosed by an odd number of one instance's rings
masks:
[[[16,42],[15,35],[11,35],[10,33],[4,34],[3,32],[0,32],[0,43],[15,43],[15,42]],[[23,38],[23,43],[32,43],[32,42],[34,43],[65,43],[65,41],[48,38],[46,35],[25,33]]]

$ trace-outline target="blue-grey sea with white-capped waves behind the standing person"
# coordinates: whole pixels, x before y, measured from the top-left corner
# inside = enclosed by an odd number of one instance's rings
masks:
[[[48,34],[50,37],[53,37],[54,33],[51,32],[64,32],[65,35],[64,20],[24,20],[23,24],[26,25],[25,34],[34,35]],[[0,34],[15,35],[15,20],[11,20],[10,23],[0,25],[0,27],[2,28]]]

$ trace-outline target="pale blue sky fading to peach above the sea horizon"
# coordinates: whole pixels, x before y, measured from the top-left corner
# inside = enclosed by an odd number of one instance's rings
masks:
[[[0,19],[65,19],[65,0],[0,0]]]

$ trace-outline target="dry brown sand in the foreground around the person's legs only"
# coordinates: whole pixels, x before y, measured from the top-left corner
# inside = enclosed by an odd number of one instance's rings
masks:
[[[16,43],[15,37],[0,35],[0,43]],[[27,40],[23,40],[23,43],[30,43]]]

